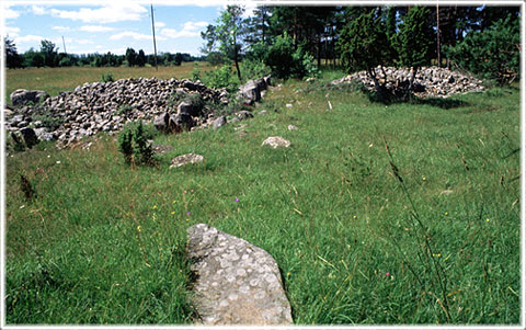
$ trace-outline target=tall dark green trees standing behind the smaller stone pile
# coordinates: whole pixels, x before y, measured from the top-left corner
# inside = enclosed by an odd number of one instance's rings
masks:
[[[375,66],[461,66],[490,70],[498,80],[519,71],[518,5],[259,7],[248,19],[243,12],[228,5],[202,32],[206,59],[231,61],[239,79],[245,60],[259,60],[277,76],[295,76],[294,69],[279,70],[309,59],[348,71],[370,68],[371,59]]]

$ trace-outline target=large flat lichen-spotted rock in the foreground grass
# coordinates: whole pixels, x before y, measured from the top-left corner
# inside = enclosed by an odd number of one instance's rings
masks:
[[[193,304],[204,325],[291,325],[279,269],[268,252],[205,224],[188,228]]]

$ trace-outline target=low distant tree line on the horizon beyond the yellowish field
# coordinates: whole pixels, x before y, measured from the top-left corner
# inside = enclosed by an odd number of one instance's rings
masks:
[[[8,68],[31,68],[31,67],[144,67],[147,64],[155,66],[153,55],[146,55],[142,49],[136,52],[128,47],[124,55],[116,55],[107,52],[105,54],[67,54],[59,53],[58,47],[50,41],[43,39],[41,48],[19,54],[14,42],[8,37],[4,38],[5,65]],[[201,57],[194,57],[186,53],[160,53],[157,55],[159,66],[180,66],[183,61],[201,60]]]

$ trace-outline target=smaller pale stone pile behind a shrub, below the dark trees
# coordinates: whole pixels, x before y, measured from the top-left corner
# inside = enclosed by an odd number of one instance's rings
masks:
[[[395,90],[409,83],[412,71],[408,68],[392,68],[381,67],[375,69],[380,83],[386,83],[388,90]],[[367,76],[366,71],[359,71],[348,75],[342,79],[332,81],[332,84],[340,84],[351,81],[358,81],[364,83],[368,90],[375,89],[375,82]],[[439,67],[422,67],[414,78],[413,93],[420,98],[448,98],[453,94],[482,92],[484,87],[482,81],[462,75],[457,71],[451,71]]]

